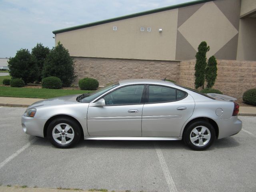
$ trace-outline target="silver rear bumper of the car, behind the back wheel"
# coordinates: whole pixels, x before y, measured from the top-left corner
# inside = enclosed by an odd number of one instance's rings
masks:
[[[232,136],[242,130],[242,121],[238,116],[232,116],[230,119],[215,120],[219,127],[218,139]]]

